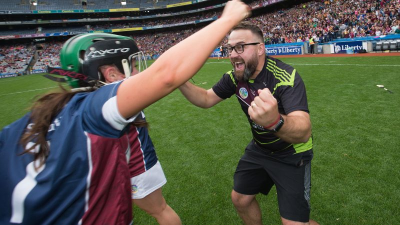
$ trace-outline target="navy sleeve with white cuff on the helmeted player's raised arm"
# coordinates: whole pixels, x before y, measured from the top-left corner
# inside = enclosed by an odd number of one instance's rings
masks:
[[[121,82],[104,85],[93,91],[88,97],[83,110],[85,129],[90,133],[119,137],[126,125],[136,116],[125,119],[118,111],[116,91]]]

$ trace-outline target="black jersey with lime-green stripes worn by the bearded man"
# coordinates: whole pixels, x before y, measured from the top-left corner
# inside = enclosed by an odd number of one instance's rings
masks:
[[[288,143],[250,119],[247,109],[258,95],[257,90],[263,88],[268,88],[276,98],[279,113],[287,115],[295,110],[309,112],[305,86],[300,75],[292,66],[270,56],[265,57],[264,66],[255,79],[238,81],[232,69],[212,86],[212,90],[222,99],[236,95],[250,123],[254,142],[265,151],[285,155],[312,149],[312,137],[305,143]]]

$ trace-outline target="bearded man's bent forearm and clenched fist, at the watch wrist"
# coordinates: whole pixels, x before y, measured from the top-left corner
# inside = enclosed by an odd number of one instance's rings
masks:
[[[258,96],[248,107],[250,118],[257,124],[272,129],[283,117],[282,127],[275,133],[276,136],[288,143],[307,142],[311,135],[311,121],[305,111],[296,110],[287,115],[279,114],[277,101],[268,88],[258,90]]]

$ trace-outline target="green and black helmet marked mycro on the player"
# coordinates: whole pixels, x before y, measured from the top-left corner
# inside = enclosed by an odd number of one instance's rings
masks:
[[[112,33],[83,33],[69,38],[61,48],[60,63],[62,69],[87,75],[86,80],[66,76],[71,87],[96,85],[97,80],[104,81],[98,72],[98,66],[115,64],[119,71],[129,76],[131,61],[140,51],[130,37]],[[127,71],[128,70],[128,71]]]

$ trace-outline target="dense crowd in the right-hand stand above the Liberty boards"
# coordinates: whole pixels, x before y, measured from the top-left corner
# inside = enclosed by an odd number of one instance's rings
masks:
[[[314,0],[250,20],[266,33],[265,43],[273,44],[307,41],[313,35],[328,42],[338,36],[391,34],[399,17],[398,0]]]

